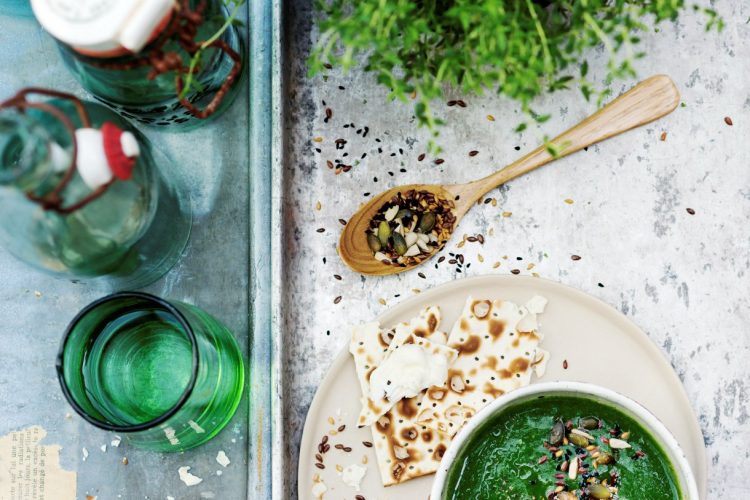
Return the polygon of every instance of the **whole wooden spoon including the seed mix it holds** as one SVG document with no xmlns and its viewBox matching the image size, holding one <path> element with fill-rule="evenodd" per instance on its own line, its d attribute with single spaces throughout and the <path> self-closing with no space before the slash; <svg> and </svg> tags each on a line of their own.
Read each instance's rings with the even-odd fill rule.
<svg viewBox="0 0 750 500">
<path fill-rule="evenodd" d="M 648 78 L 502 170 L 466 184 L 409 184 L 375 195 L 350 219 L 339 255 L 366 275 L 396 274 L 429 260 L 487 192 L 547 163 L 672 112 L 680 102 L 666 75 Z"/>
</svg>

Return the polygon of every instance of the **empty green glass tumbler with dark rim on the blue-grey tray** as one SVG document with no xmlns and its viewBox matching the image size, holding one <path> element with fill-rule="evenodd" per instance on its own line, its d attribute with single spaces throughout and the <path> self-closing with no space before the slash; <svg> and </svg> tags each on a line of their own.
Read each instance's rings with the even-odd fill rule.
<svg viewBox="0 0 750 500">
<path fill-rule="evenodd" d="M 140 292 L 109 295 L 79 312 L 57 373 L 86 421 L 154 451 L 183 451 L 216 436 L 244 384 L 232 332 L 195 306 Z"/>
</svg>

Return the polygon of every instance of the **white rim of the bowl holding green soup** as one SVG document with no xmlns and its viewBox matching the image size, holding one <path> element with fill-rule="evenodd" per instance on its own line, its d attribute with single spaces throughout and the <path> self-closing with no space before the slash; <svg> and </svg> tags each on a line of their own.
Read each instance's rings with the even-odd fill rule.
<svg viewBox="0 0 750 500">
<path fill-rule="evenodd" d="M 512 403 L 528 401 L 541 395 L 574 395 L 585 397 L 594 401 L 607 403 L 630 416 L 648 430 L 654 436 L 656 442 L 663 447 L 667 457 L 672 462 L 684 499 L 699 499 L 695 476 L 690 469 L 685 453 L 680 448 L 680 445 L 677 443 L 674 436 L 672 436 L 672 433 L 664 427 L 664 424 L 662 424 L 658 418 L 643 406 L 622 394 L 610 389 L 605 389 L 604 387 L 581 382 L 543 382 L 532 384 L 522 389 L 516 389 L 509 392 L 487 405 L 471 418 L 461 431 L 459 431 L 456 437 L 453 438 L 453 442 L 451 442 L 448 450 L 443 455 L 440 467 L 435 475 L 430 498 L 432 500 L 442 500 L 444 493 L 443 490 L 446 487 L 446 480 L 448 478 L 448 470 L 456 460 L 456 457 L 464 444 L 471 438 L 474 431 L 476 431 L 482 423 L 492 418 L 493 415 L 500 413 Z"/>
</svg>

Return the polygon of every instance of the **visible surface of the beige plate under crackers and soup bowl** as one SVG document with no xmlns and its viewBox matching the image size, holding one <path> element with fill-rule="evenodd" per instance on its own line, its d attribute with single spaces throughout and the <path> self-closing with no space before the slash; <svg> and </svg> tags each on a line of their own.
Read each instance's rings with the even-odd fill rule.
<svg viewBox="0 0 750 500">
<path fill-rule="evenodd" d="M 542 347 L 550 351 L 547 373 L 541 379 L 589 382 L 613 389 L 641 403 L 677 438 L 695 474 L 701 498 L 706 498 L 706 456 L 698 421 L 679 378 L 661 351 L 643 331 L 620 312 L 583 292 L 541 278 L 524 276 L 481 276 L 452 281 L 389 309 L 378 319 L 384 327 L 406 321 L 427 305 L 440 306 L 441 329 L 450 331 L 461 313 L 466 297 L 506 299 L 519 304 L 534 295 L 549 300 L 540 316 L 544 334 Z M 366 320 L 367 318 L 362 318 Z M 567 360 L 567 369 L 563 361 Z M 333 362 L 315 394 L 307 414 L 299 460 L 300 500 L 315 500 L 313 477 L 317 474 L 328 491 L 324 499 L 422 500 L 428 497 L 433 476 L 421 477 L 385 488 L 380 482 L 369 428 L 357 429 L 360 388 L 354 362 L 345 348 Z M 346 429 L 335 435 L 341 425 Z M 323 435 L 330 451 L 324 456 L 325 469 L 315 467 L 315 454 Z M 334 447 L 352 448 L 345 452 Z M 346 485 L 337 465 L 362 464 L 367 474 L 360 492 Z"/>
</svg>

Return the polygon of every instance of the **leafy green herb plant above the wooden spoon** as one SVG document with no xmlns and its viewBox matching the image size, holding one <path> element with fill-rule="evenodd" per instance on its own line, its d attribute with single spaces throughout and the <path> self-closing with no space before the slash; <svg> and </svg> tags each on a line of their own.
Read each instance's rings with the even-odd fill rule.
<svg viewBox="0 0 750 500">
<path fill-rule="evenodd" d="M 415 114 L 433 136 L 442 124 L 430 102 L 446 87 L 471 94 L 493 91 L 518 101 L 528 117 L 518 127 L 549 115 L 531 107 L 543 92 L 580 88 L 598 104 L 607 89 L 589 80 L 589 57 L 604 48 L 606 83 L 635 76 L 639 33 L 674 21 L 684 0 L 316 0 L 320 38 L 310 74 L 362 64 L 390 95 L 416 100 Z M 723 26 L 711 8 L 706 29 Z"/>
</svg>

